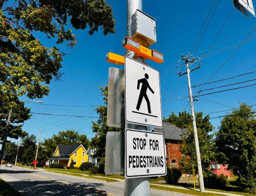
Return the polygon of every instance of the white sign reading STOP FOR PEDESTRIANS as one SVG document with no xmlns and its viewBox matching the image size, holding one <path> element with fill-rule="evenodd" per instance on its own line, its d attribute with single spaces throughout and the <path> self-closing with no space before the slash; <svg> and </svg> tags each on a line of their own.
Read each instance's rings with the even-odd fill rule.
<svg viewBox="0 0 256 196">
<path fill-rule="evenodd" d="M 166 175 L 164 136 L 142 130 L 125 130 L 125 177 Z"/>
</svg>

